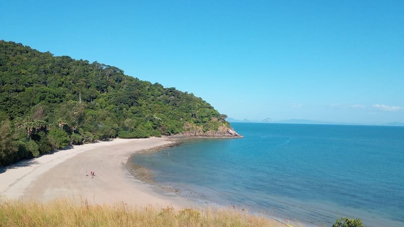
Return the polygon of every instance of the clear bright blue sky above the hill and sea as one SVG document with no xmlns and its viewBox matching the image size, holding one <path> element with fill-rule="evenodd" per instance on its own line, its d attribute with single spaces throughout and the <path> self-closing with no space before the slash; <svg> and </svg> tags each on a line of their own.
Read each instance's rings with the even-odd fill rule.
<svg viewBox="0 0 404 227">
<path fill-rule="evenodd" d="M 235 119 L 404 122 L 404 1 L 18 1 L 0 39 L 113 65 Z"/>
</svg>

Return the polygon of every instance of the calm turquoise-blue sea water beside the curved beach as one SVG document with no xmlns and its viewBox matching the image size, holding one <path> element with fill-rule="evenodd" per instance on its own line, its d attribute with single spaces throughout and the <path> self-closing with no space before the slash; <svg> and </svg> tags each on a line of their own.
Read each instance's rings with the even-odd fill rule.
<svg viewBox="0 0 404 227">
<path fill-rule="evenodd" d="M 307 225 L 404 226 L 404 127 L 233 123 L 243 139 L 131 157 L 156 185 Z"/>
</svg>

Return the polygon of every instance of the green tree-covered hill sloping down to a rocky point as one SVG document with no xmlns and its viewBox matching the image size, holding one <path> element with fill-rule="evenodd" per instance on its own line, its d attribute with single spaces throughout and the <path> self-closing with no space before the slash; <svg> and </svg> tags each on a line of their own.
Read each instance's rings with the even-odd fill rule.
<svg viewBox="0 0 404 227">
<path fill-rule="evenodd" d="M 0 165 L 97 139 L 231 136 L 226 117 L 116 67 L 0 41 Z"/>
</svg>

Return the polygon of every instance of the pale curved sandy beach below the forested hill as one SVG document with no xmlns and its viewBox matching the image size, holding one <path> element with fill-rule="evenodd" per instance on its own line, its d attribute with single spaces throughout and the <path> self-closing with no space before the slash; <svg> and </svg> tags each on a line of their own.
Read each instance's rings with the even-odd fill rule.
<svg viewBox="0 0 404 227">
<path fill-rule="evenodd" d="M 125 169 L 131 154 L 170 143 L 167 138 L 114 139 L 21 161 L 0 169 L 0 198 L 182 207 L 184 199 L 154 192 Z"/>
</svg>

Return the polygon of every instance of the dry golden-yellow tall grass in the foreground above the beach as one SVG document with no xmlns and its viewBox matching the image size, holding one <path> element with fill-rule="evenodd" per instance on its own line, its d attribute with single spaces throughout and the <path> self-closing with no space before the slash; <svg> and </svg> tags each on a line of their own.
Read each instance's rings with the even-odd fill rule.
<svg viewBox="0 0 404 227">
<path fill-rule="evenodd" d="M 232 209 L 172 207 L 157 209 L 151 206 L 130 208 L 124 203 L 115 205 L 81 205 L 69 200 L 48 203 L 0 202 L 0 226 L 291 226 L 266 217 L 253 216 Z"/>
</svg>

